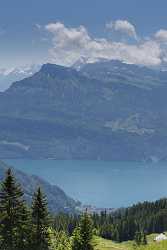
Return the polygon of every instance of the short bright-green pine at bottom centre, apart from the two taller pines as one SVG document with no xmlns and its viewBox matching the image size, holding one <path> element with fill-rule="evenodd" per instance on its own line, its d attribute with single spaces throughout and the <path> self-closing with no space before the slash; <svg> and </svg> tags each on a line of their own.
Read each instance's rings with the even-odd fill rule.
<svg viewBox="0 0 167 250">
<path fill-rule="evenodd" d="M 87 211 L 82 215 L 80 225 L 73 235 L 73 250 L 92 250 L 93 226 Z"/>
</svg>

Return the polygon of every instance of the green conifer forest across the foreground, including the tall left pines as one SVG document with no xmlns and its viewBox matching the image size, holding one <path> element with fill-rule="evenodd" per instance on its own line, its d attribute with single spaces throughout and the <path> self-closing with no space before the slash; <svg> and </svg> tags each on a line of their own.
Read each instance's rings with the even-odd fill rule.
<svg viewBox="0 0 167 250">
<path fill-rule="evenodd" d="M 8 169 L 0 186 L 1 250 L 92 250 L 94 238 L 147 245 L 147 235 L 167 231 L 167 199 L 138 203 L 108 214 L 51 214 L 40 187 L 32 204 Z"/>
</svg>

